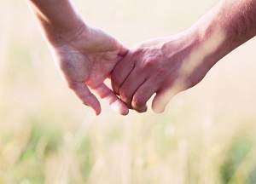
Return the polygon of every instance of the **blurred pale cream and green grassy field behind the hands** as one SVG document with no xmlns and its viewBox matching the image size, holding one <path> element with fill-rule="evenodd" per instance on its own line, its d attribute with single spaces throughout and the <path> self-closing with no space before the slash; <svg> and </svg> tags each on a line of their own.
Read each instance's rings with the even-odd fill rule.
<svg viewBox="0 0 256 184">
<path fill-rule="evenodd" d="M 74 4 L 131 48 L 182 32 L 216 2 Z M 102 103 L 96 117 L 61 81 L 26 1 L 0 0 L 0 183 L 256 183 L 255 47 L 224 57 L 162 114 L 121 117 Z"/>
</svg>

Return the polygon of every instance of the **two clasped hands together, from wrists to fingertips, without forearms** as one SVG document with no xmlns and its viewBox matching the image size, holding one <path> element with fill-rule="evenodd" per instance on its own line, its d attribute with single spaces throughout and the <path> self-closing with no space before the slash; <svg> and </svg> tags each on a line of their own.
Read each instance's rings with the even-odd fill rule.
<svg viewBox="0 0 256 184">
<path fill-rule="evenodd" d="M 187 32 L 144 41 L 129 52 L 101 30 L 81 26 L 76 32 L 53 47 L 55 63 L 67 86 L 96 114 L 101 106 L 90 91 L 122 115 L 128 108 L 146 112 L 156 93 L 152 108 L 164 112 L 173 95 L 199 83 L 210 69 L 191 58 L 198 51 L 196 38 Z M 113 91 L 104 83 L 108 77 Z"/>
</svg>

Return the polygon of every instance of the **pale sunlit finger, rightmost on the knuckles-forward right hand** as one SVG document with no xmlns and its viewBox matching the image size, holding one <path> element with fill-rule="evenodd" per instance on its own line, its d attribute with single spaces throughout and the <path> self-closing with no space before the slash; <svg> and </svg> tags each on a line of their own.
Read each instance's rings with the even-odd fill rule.
<svg viewBox="0 0 256 184">
<path fill-rule="evenodd" d="M 167 104 L 172 100 L 172 97 L 182 90 L 183 87 L 177 84 L 173 84 L 172 86 L 159 90 L 154 96 L 154 100 L 152 102 L 153 111 L 156 113 L 164 112 Z"/>
</svg>

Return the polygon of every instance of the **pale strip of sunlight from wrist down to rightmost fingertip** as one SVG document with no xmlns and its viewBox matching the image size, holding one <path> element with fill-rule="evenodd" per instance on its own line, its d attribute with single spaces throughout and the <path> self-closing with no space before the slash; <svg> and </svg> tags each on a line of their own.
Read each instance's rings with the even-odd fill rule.
<svg viewBox="0 0 256 184">
<path fill-rule="evenodd" d="M 201 70 L 201 66 L 205 65 L 204 62 L 207 62 L 207 56 L 215 53 L 223 44 L 225 37 L 224 32 L 214 32 L 205 43 L 195 48 L 195 50 L 183 60 L 183 66 L 179 68 L 178 77 L 173 82 L 172 87 L 162 93 L 157 100 L 153 101 L 152 109 L 154 112 L 164 112 L 166 105 L 172 100 L 174 95 L 194 85 L 193 83 L 191 86 L 191 83 L 189 83 L 190 80 L 193 80 L 193 78 L 195 78 L 194 75 L 200 72 L 198 70 Z"/>
</svg>

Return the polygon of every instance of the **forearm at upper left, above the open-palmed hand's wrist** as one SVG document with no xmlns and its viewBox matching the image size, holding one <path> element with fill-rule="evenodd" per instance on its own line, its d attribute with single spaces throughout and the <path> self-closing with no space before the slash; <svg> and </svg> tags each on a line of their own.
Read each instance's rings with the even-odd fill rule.
<svg viewBox="0 0 256 184">
<path fill-rule="evenodd" d="M 69 42 L 76 32 L 79 33 L 79 29 L 85 26 L 71 0 L 28 0 L 28 2 L 32 5 L 32 12 L 50 44 Z"/>
</svg>

